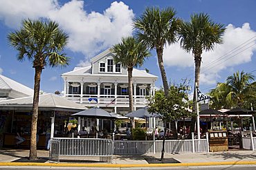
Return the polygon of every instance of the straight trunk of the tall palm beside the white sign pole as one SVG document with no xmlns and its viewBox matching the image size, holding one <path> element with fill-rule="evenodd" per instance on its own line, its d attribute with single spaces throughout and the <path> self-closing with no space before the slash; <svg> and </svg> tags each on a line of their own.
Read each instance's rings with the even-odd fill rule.
<svg viewBox="0 0 256 170">
<path fill-rule="evenodd" d="M 194 132 L 194 124 L 196 122 L 196 84 L 199 86 L 199 78 L 200 78 L 200 70 L 201 70 L 201 55 L 194 55 L 194 96 L 193 96 L 193 108 L 192 112 L 194 113 L 191 118 L 191 125 L 190 125 L 190 133 Z M 191 138 L 191 136 L 190 136 Z"/>
</svg>

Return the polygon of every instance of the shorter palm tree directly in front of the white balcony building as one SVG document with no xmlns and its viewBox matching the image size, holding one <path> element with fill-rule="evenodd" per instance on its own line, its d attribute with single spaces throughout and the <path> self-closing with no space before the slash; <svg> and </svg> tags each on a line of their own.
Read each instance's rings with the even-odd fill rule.
<svg viewBox="0 0 256 170">
<path fill-rule="evenodd" d="M 134 111 L 133 91 L 132 91 L 132 71 L 134 67 L 142 66 L 145 58 L 150 56 L 147 46 L 140 43 L 134 37 L 122 38 L 119 44 L 114 45 L 111 51 L 115 54 L 115 63 L 122 64 L 128 71 L 128 93 L 129 111 Z M 133 124 L 134 126 L 134 124 Z"/>
</svg>

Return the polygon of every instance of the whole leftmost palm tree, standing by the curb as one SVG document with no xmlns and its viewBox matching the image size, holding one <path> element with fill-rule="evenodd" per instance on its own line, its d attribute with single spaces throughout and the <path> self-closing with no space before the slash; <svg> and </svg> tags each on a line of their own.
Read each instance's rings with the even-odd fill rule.
<svg viewBox="0 0 256 170">
<path fill-rule="evenodd" d="M 54 21 L 22 21 L 20 30 L 8 35 L 10 46 L 18 50 L 17 59 L 28 59 L 35 68 L 35 84 L 33 97 L 33 115 L 31 119 L 30 155 L 31 160 L 37 159 L 37 116 L 39 89 L 42 70 L 46 66 L 66 66 L 69 58 L 62 51 L 68 42 L 68 35 Z"/>
</svg>

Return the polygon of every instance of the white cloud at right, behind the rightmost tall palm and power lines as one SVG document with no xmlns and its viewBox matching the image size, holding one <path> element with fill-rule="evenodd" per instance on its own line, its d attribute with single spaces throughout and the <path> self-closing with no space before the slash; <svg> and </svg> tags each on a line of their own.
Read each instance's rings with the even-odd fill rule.
<svg viewBox="0 0 256 170">
<path fill-rule="evenodd" d="M 256 50 L 255 42 L 256 32 L 250 29 L 249 23 L 244 23 L 241 28 L 229 24 L 223 35 L 223 44 L 215 46 L 212 51 L 203 52 L 201 82 L 215 84 L 221 70 L 250 62 Z M 163 57 L 166 66 L 194 67 L 192 53 L 185 53 L 179 43 L 167 46 Z"/>
</svg>

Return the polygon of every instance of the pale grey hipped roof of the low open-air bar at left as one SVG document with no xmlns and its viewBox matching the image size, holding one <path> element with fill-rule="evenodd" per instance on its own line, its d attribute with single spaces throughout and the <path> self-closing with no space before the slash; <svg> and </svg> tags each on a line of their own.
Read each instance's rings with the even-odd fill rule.
<svg viewBox="0 0 256 170">
<path fill-rule="evenodd" d="M 33 96 L 0 101 L 0 108 L 10 107 L 10 109 L 13 109 L 20 107 L 32 109 L 32 106 Z M 81 111 L 86 109 L 86 107 L 81 106 L 80 104 L 76 104 L 75 102 L 66 100 L 64 97 L 60 97 L 51 93 L 39 95 L 39 110 L 44 110 L 46 108 L 55 111 Z"/>
</svg>

